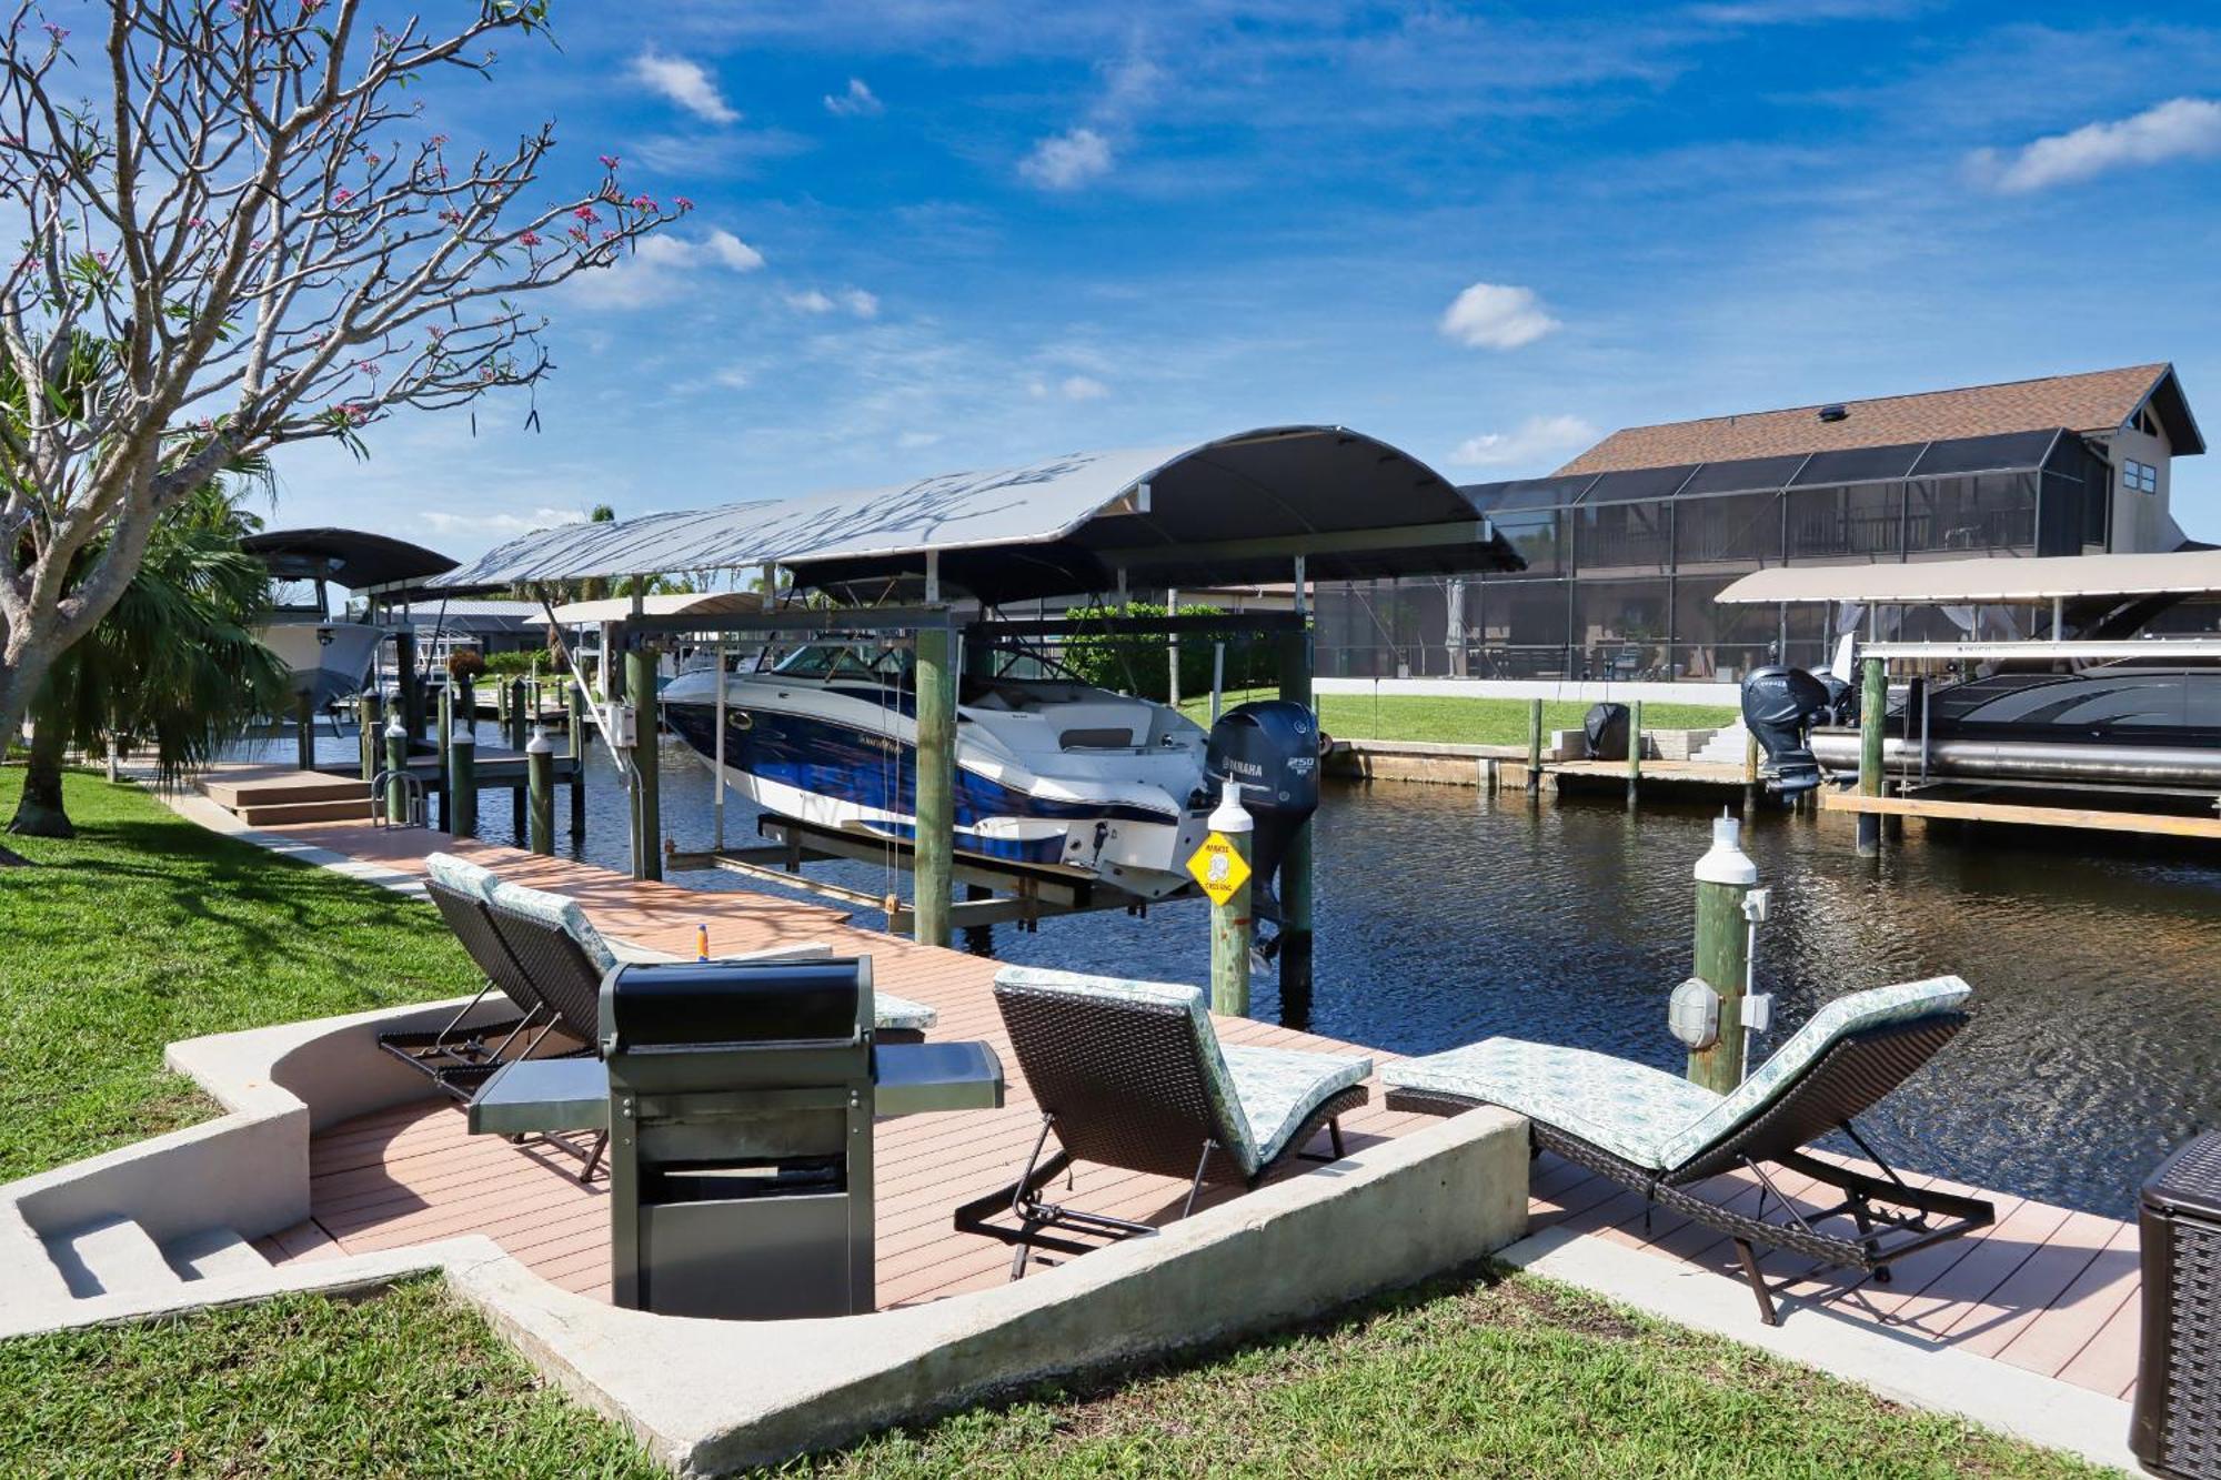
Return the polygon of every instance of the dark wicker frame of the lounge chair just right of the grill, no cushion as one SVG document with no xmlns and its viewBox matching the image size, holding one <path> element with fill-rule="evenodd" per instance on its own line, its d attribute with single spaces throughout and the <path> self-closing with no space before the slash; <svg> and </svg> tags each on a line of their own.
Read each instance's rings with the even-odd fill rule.
<svg viewBox="0 0 2221 1480">
<path fill-rule="evenodd" d="M 1037 1249 L 1091 1253 L 1104 1242 L 1150 1238 L 1153 1224 L 1071 1209 L 1042 1189 L 1073 1162 L 1153 1171 L 1188 1182 L 1179 1216 L 1195 1211 L 1204 1184 L 1257 1187 L 1288 1160 L 1333 1162 L 1344 1156 L 1341 1116 L 1368 1100 L 1364 1084 L 1321 1100 L 1255 1173 L 1226 1149 L 1228 1131 L 1204 1091 L 1204 1064 L 1186 1004 L 1084 1000 L 1033 987 L 995 987 L 1019 1071 L 1042 1102 L 1042 1129 L 1019 1178 L 955 1211 L 959 1233 L 1015 1244 L 1011 1278 L 1022 1280 Z M 1139 1080 L 1133 1082 L 1133 1080 Z M 1326 1129 L 1333 1156 L 1304 1151 Z M 1059 1149 L 1048 1160 L 1051 1131 Z M 1193 1171 L 1188 1158 L 1195 1158 Z M 1017 1227 L 995 1222 L 1008 1213 Z M 1079 1242 L 1088 1236 L 1099 1242 Z"/>
</svg>

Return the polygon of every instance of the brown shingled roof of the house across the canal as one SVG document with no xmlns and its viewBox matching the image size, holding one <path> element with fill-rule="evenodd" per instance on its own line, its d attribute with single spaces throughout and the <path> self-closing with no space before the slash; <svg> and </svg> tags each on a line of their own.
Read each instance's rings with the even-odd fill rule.
<svg viewBox="0 0 2221 1480">
<path fill-rule="evenodd" d="M 1999 431 L 2112 431 L 2170 373 L 2168 364 L 2130 364 L 2083 376 L 2046 376 L 2010 384 L 1977 384 L 1961 391 L 1846 400 L 1839 422 L 1819 420 L 1819 407 L 1712 416 L 1661 427 L 1626 427 L 1557 469 L 1564 473 L 1610 473 L 1637 467 L 1679 467 L 1730 458 L 1837 451 L 1846 447 L 1895 447 L 1974 438 Z M 1837 404 L 1837 402 L 1830 402 Z"/>
</svg>

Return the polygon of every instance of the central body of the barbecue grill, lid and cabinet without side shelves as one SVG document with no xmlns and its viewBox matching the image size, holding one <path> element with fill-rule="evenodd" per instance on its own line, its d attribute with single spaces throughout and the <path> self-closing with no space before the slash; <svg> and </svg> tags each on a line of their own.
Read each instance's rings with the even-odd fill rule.
<svg viewBox="0 0 2221 1480">
<path fill-rule="evenodd" d="M 871 960 L 615 967 L 600 1036 L 615 1304 L 871 1311 Z"/>
</svg>

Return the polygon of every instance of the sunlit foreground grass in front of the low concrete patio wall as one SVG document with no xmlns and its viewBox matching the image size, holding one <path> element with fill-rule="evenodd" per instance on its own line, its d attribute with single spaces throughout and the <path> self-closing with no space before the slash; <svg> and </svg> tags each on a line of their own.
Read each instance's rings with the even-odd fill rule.
<svg viewBox="0 0 2221 1480">
<path fill-rule="evenodd" d="M 651 1476 L 435 1280 L 0 1342 L 0 1453 L 40 1476 Z M 2097 1473 L 1546 1280 L 1481 1273 L 1310 1329 L 882 1433 L 788 1473 Z"/>
</svg>

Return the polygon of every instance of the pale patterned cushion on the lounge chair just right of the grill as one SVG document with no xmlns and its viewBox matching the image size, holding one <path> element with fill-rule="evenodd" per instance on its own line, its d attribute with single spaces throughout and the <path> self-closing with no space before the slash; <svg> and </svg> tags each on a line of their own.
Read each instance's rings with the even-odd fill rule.
<svg viewBox="0 0 2221 1480">
<path fill-rule="evenodd" d="M 1279 1156 L 1286 1138 L 1321 1100 L 1373 1073 L 1368 1058 L 1222 1047 L 1217 1029 L 1210 1027 L 1204 993 L 1179 982 L 1135 982 L 1079 971 L 1004 967 L 995 973 L 995 984 L 1186 1011 L 1204 1069 L 1204 1093 L 1217 1111 L 1215 1118 L 1228 1127 L 1226 1140 L 1233 1144 L 1224 1149 L 1242 1167 L 1242 1176 L 1255 1176 Z"/>
</svg>

